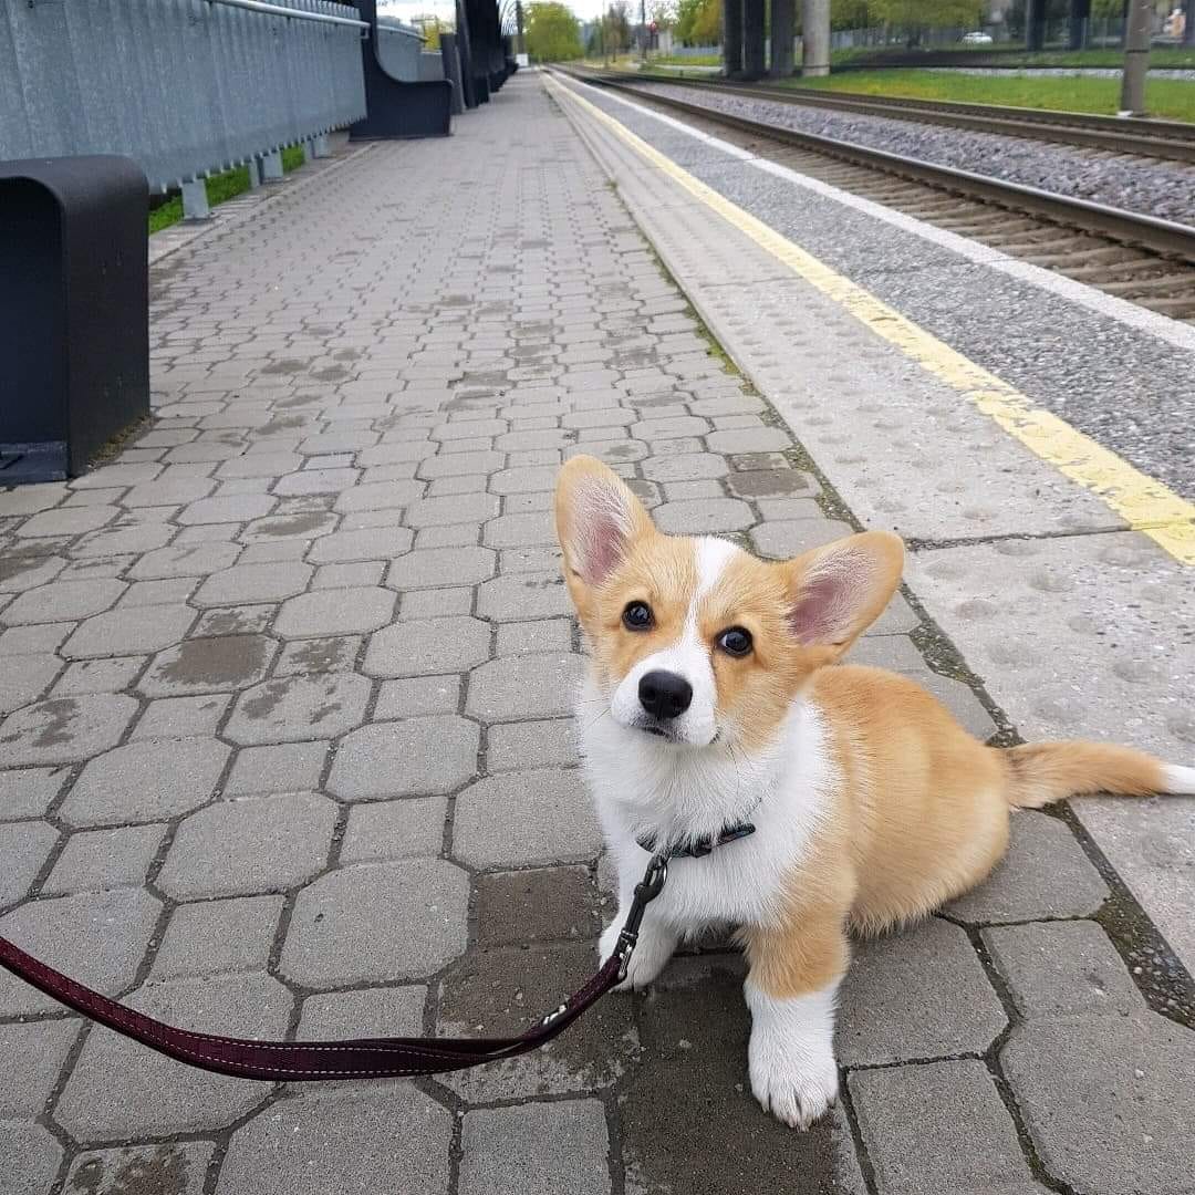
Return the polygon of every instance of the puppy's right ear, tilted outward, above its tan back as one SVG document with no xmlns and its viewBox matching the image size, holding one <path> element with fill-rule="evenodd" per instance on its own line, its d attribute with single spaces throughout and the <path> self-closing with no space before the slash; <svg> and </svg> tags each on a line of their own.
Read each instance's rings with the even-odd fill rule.
<svg viewBox="0 0 1195 1195">
<path fill-rule="evenodd" d="M 900 584 L 905 545 L 869 531 L 789 560 L 788 623 L 805 646 L 841 655 L 883 612 Z"/>
</svg>

